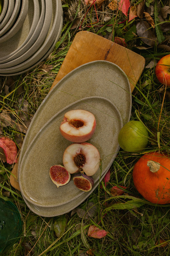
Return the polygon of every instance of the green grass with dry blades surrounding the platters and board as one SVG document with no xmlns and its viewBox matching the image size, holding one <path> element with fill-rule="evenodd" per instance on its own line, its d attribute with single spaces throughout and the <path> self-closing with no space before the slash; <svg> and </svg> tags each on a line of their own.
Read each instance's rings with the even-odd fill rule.
<svg viewBox="0 0 170 256">
<path fill-rule="evenodd" d="M 138 4 L 141 1 L 133 1 Z M 151 2 L 151 1 L 146 1 Z M 165 5 L 168 3 L 164 2 Z M 162 4 L 161 2 L 161 4 Z M 64 57 L 79 31 L 88 30 L 107 38 L 114 36 L 124 37 L 127 47 L 146 59 L 159 60 L 168 51 L 155 47 L 146 47 L 141 50 L 137 46 L 146 46 L 138 36 L 129 37 L 129 29 L 134 29 L 135 22 L 127 22 L 122 12 L 117 9 L 111 11 L 105 1 L 100 9 L 85 6 L 83 1 L 63 0 L 64 21 L 63 29 L 54 51 L 50 54 L 45 65 L 52 65 L 48 72 L 44 67 L 37 66 L 29 72 L 11 77 L 0 77 L 0 107 L 1 114 L 13 114 L 10 126 L 2 127 L 2 136 L 13 139 L 18 148 L 24 140 L 25 133 L 18 127 L 26 129 L 26 119 L 31 119 L 46 97 L 58 73 Z M 87 14 L 85 15 L 85 13 Z M 111 20 L 105 21 L 110 15 Z M 72 29 L 74 20 L 79 17 L 79 24 Z M 124 21 L 125 20 L 125 21 Z M 122 21 L 124 21 L 122 23 Z M 95 23 L 95 24 L 92 24 Z M 90 25 L 86 25 L 90 24 Z M 169 31 L 166 32 L 167 36 Z M 10 87 L 5 86 L 10 83 Z M 170 154 L 170 101 L 163 99 L 165 87 L 160 85 L 155 76 L 155 68 L 145 68 L 136 88 L 132 93 L 131 120 L 141 120 L 150 131 L 148 148 L 144 152 L 160 150 Z M 168 92 L 168 89 L 167 89 Z M 22 98 L 22 103 L 19 99 Z M 24 100 L 26 102 L 24 103 Z M 28 114 L 23 110 L 27 104 Z M 18 106 L 18 111 L 16 110 Z M 19 115 L 23 113 L 25 118 Z M 168 256 L 170 243 L 169 205 L 151 204 L 137 193 L 132 180 L 132 171 L 141 153 L 131 154 L 120 150 L 111 166 L 110 180 L 105 187 L 103 181 L 92 194 L 78 206 L 84 210 L 69 212 L 63 217 L 45 218 L 34 214 L 25 204 L 20 192 L 14 189 L 9 181 L 12 165 L 0 162 L 0 197 L 10 200 L 17 205 L 23 220 L 23 232 L 19 242 L 6 252 L 4 256 L 86 256 L 89 248 L 90 255 L 104 256 Z M 113 186 L 125 186 L 123 196 L 112 196 Z M 131 200 L 131 201 L 130 201 Z M 130 205 L 127 202 L 130 201 Z M 118 203 L 115 205 L 114 203 Z M 124 207 L 126 203 L 126 208 Z M 89 206 L 90 205 L 90 206 Z M 91 207 L 92 215 L 87 213 Z M 57 237 L 54 224 L 60 223 L 63 235 Z M 89 225 L 96 225 L 107 230 L 107 236 L 98 239 L 87 236 Z"/>
</svg>

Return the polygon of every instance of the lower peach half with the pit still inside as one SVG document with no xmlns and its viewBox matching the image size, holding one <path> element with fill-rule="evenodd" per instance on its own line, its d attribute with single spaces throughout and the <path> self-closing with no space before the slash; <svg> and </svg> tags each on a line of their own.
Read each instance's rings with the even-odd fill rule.
<svg viewBox="0 0 170 256">
<path fill-rule="evenodd" d="M 100 153 L 88 142 L 73 143 L 64 151 L 63 165 L 70 173 L 83 171 L 92 176 L 99 169 Z"/>
</svg>

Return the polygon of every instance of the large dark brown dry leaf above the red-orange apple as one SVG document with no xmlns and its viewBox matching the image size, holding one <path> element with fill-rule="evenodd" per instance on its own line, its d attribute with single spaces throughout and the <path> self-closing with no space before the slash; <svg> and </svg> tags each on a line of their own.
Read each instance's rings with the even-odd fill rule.
<svg viewBox="0 0 170 256">
<path fill-rule="evenodd" d="M 150 46 L 155 46 L 155 44 L 158 44 L 157 37 L 153 31 L 153 28 L 151 28 L 146 21 L 140 20 L 136 27 L 137 35 L 145 44 Z"/>
</svg>

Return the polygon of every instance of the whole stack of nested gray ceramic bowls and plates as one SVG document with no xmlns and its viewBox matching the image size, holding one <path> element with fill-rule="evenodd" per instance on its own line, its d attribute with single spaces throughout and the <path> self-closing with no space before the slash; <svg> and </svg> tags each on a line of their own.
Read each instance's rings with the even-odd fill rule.
<svg viewBox="0 0 170 256">
<path fill-rule="evenodd" d="M 53 51 L 63 26 L 61 0 L 3 0 L 0 76 L 27 72 Z"/>
</svg>

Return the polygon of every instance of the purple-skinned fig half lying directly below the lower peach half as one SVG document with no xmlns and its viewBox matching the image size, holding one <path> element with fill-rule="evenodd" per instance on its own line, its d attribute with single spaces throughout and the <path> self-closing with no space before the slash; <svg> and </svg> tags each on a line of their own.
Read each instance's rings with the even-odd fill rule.
<svg viewBox="0 0 170 256">
<path fill-rule="evenodd" d="M 74 175 L 73 183 L 78 189 L 88 192 L 92 189 L 94 180 L 92 177 L 80 172 Z"/>
</svg>

